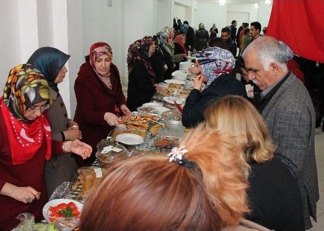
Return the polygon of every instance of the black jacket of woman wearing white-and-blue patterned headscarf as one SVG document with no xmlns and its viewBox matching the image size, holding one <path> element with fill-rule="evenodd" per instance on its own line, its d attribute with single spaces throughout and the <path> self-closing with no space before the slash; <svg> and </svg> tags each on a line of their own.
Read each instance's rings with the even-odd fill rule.
<svg viewBox="0 0 324 231">
<path fill-rule="evenodd" d="M 194 127 L 204 121 L 204 113 L 210 103 L 224 95 L 239 95 L 248 98 L 244 84 L 231 74 L 222 74 L 204 91 L 193 89 L 183 107 L 182 124 Z"/>
</svg>

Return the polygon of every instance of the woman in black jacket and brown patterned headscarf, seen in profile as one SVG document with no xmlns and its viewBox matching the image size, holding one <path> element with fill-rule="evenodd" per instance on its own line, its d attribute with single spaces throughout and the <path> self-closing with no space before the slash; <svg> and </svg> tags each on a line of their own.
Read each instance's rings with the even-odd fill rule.
<svg viewBox="0 0 324 231">
<path fill-rule="evenodd" d="M 155 73 L 149 58 L 155 51 L 153 37 L 145 36 L 128 48 L 128 90 L 127 106 L 136 111 L 151 100 L 158 85 L 154 84 Z"/>
</svg>

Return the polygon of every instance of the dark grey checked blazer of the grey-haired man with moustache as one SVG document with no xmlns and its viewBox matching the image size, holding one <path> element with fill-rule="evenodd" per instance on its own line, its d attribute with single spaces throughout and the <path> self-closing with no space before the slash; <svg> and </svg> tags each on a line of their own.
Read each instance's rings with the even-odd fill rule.
<svg viewBox="0 0 324 231">
<path fill-rule="evenodd" d="M 293 73 L 270 99 L 262 116 L 278 145 L 275 155 L 298 181 L 307 228 L 309 215 L 316 221 L 319 199 L 314 148 L 315 111 L 307 89 Z"/>
</svg>

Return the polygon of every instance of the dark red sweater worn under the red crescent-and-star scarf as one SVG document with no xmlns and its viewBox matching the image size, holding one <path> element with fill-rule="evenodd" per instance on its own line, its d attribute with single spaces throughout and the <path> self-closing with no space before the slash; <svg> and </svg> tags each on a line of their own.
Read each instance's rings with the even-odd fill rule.
<svg viewBox="0 0 324 231">
<path fill-rule="evenodd" d="M 23 164 L 12 164 L 11 149 L 7 128 L 0 110 L 0 190 L 6 182 L 18 187 L 30 186 L 41 192 L 41 198 L 32 203 L 24 204 L 11 197 L 0 195 L 0 229 L 11 230 L 18 225 L 17 215 L 23 212 L 32 213 L 36 221 L 43 218 L 42 210 L 46 202 L 47 191 L 44 181 L 46 142 L 39 148 L 36 155 Z M 45 139 L 44 139 L 45 140 Z M 52 154 L 62 153 L 62 142 L 52 140 Z"/>
</svg>

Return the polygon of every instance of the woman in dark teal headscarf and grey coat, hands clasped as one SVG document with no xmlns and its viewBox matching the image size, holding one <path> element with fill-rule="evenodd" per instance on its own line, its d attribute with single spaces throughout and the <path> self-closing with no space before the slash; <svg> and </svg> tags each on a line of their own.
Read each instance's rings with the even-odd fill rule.
<svg viewBox="0 0 324 231">
<path fill-rule="evenodd" d="M 53 47 L 37 49 L 28 59 L 40 70 L 50 86 L 50 95 L 53 99 L 51 107 L 47 110 L 51 121 L 52 138 L 57 141 L 81 139 L 82 134 L 78 125 L 67 118 L 67 111 L 57 85 L 63 82 L 67 69 L 65 63 L 69 55 Z M 53 157 L 45 165 L 45 182 L 48 196 L 64 181 L 71 181 L 77 169 L 72 155 Z"/>
</svg>

